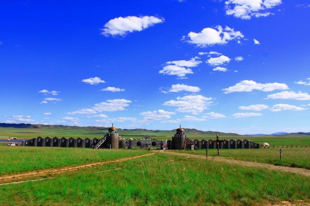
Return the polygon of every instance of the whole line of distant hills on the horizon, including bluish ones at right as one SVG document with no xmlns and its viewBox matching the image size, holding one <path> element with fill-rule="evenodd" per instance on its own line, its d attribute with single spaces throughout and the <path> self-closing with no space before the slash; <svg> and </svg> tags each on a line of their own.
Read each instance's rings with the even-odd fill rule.
<svg viewBox="0 0 310 206">
<path fill-rule="evenodd" d="M 173 130 L 151 130 L 151 129 L 121 129 L 117 128 L 117 132 L 122 137 L 137 137 L 141 135 L 149 135 L 153 137 L 171 137 L 175 134 L 176 128 Z M 276 132 L 273 134 L 245 134 L 224 133 L 218 131 L 201 131 L 197 129 L 184 128 L 188 137 L 215 137 L 216 133 L 219 137 L 238 137 L 238 136 L 310 136 L 310 132 L 286 133 Z M 8 124 L 0 123 L 0 136 L 3 137 L 102 137 L 108 132 L 108 127 L 78 127 L 68 125 L 44 125 L 44 124 Z"/>
</svg>

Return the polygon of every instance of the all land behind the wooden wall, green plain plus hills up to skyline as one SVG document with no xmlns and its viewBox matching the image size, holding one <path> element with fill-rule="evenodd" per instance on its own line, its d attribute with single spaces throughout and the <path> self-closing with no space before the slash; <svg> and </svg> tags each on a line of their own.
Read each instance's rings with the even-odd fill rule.
<svg viewBox="0 0 310 206">
<path fill-rule="evenodd" d="M 65 125 L 35 125 L 35 124 L 5 124 L 0 123 L 0 137 L 19 137 L 19 138 L 33 138 L 33 137 L 103 137 L 108 128 L 103 127 L 77 127 Z M 147 130 L 147 129 L 118 129 L 117 132 L 122 138 L 139 138 L 144 135 L 156 138 L 158 140 L 171 139 L 175 134 L 175 130 Z M 208 140 L 215 139 L 216 132 L 201 131 L 197 129 L 185 128 L 186 135 L 191 139 Z M 307 134 L 307 133 L 304 133 Z M 293 135 L 286 134 L 286 135 Z M 245 137 L 235 133 L 219 132 L 220 139 L 249 139 L 254 142 L 268 142 L 271 146 L 294 145 L 310 146 L 310 135 L 291 136 L 259 136 L 259 137 Z"/>
</svg>

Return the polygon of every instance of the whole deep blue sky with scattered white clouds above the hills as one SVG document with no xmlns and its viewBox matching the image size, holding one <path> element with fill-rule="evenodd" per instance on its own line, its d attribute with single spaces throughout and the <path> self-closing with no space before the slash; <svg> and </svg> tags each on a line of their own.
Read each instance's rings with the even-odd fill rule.
<svg viewBox="0 0 310 206">
<path fill-rule="evenodd" d="M 308 19 L 308 1 L 6 1 L 0 122 L 309 132 Z"/>
</svg>

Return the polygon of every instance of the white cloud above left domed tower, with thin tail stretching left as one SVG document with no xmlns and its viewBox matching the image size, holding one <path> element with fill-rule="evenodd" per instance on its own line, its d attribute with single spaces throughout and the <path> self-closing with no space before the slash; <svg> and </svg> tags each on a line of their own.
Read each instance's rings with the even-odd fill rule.
<svg viewBox="0 0 310 206">
<path fill-rule="evenodd" d="M 106 102 L 100 102 L 95 104 L 91 108 L 79 109 L 73 112 L 67 112 L 67 114 L 96 114 L 102 111 L 123 111 L 125 107 L 129 106 L 131 100 L 126 99 L 108 99 Z"/>
</svg>

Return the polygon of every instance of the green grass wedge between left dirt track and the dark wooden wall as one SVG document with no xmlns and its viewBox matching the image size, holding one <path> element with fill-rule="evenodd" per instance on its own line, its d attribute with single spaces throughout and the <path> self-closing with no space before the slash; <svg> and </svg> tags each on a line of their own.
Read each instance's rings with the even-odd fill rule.
<svg viewBox="0 0 310 206">
<path fill-rule="evenodd" d="M 144 149 L 87 149 L 57 147 L 0 146 L 0 176 L 8 173 L 81 165 L 90 162 L 131 157 L 147 153 Z"/>
</svg>

